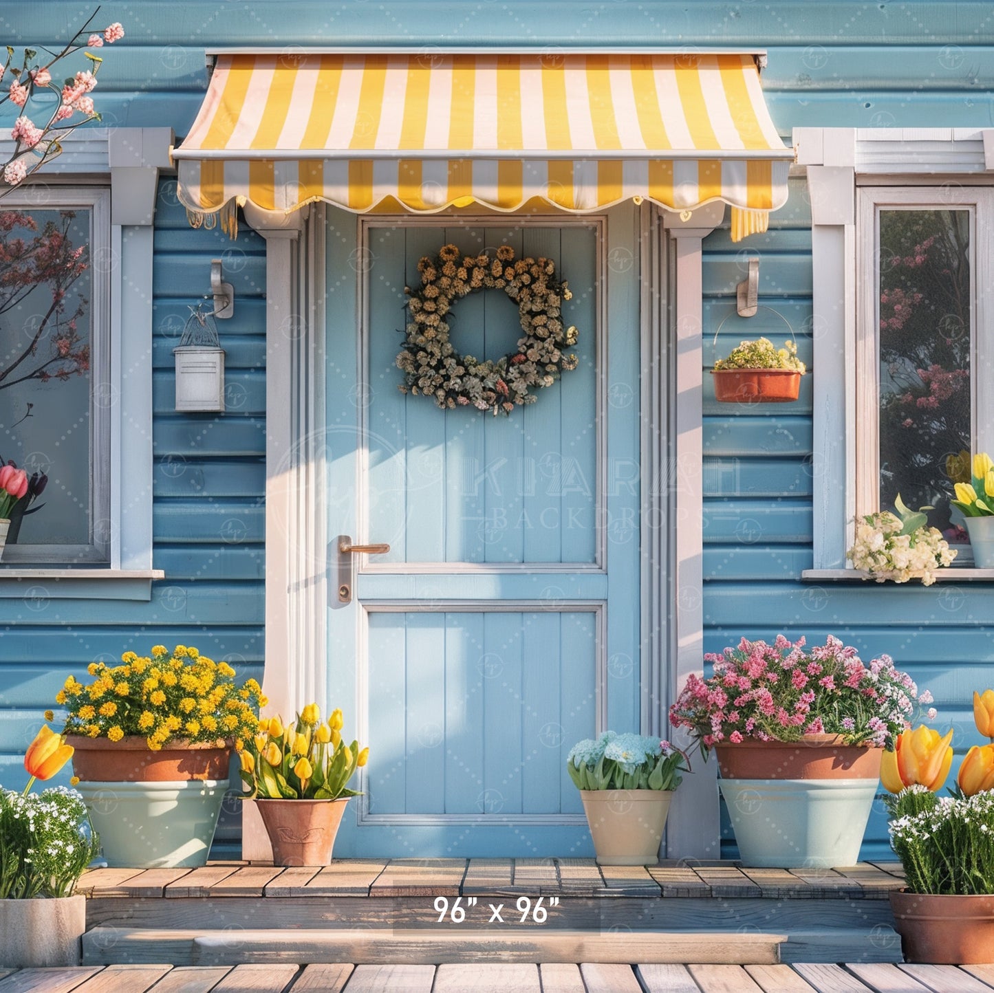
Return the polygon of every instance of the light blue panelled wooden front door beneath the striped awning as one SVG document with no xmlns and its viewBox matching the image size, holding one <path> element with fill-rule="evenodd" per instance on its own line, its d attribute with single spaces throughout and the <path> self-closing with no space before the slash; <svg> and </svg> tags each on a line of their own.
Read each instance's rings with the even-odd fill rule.
<svg viewBox="0 0 994 993">
<path fill-rule="evenodd" d="M 567 753 L 639 722 L 637 218 L 368 219 L 357 245 L 329 211 L 329 535 L 390 545 L 348 603 L 329 546 L 331 704 L 371 750 L 336 854 L 592 854 Z M 398 389 L 405 286 L 447 243 L 569 281 L 579 366 L 510 416 Z M 499 290 L 448 319 L 477 358 L 522 333 Z"/>
</svg>

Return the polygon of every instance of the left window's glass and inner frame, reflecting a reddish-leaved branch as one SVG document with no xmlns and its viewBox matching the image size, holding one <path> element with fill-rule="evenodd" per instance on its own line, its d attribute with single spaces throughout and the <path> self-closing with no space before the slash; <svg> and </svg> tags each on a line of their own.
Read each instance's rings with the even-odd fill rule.
<svg viewBox="0 0 994 993">
<path fill-rule="evenodd" d="M 5 566 L 109 562 L 109 194 L 0 201 L 0 458 L 42 492 L 11 515 Z"/>
</svg>

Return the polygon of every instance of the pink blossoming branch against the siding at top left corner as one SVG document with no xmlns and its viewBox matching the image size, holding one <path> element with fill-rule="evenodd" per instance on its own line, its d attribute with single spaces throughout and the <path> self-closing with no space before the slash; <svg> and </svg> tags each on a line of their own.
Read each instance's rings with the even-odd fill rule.
<svg viewBox="0 0 994 993">
<path fill-rule="evenodd" d="M 11 129 L 14 151 L 6 162 L 0 163 L 0 197 L 54 159 L 62 151 L 62 139 L 68 134 L 81 124 L 100 119 L 90 93 L 103 60 L 89 50 L 123 38 L 124 29 L 114 23 L 102 32 L 91 32 L 90 25 L 98 10 L 61 52 L 43 50 L 40 54 L 35 49 L 24 49 L 17 58 L 15 50 L 7 46 L 7 61 L 0 74 L 0 105 L 10 102 L 19 108 L 19 114 Z M 62 84 L 57 83 L 54 76 L 57 64 L 80 51 L 86 60 L 83 68 Z M 45 91 L 57 96 L 51 106 L 49 99 L 39 99 Z"/>
</svg>

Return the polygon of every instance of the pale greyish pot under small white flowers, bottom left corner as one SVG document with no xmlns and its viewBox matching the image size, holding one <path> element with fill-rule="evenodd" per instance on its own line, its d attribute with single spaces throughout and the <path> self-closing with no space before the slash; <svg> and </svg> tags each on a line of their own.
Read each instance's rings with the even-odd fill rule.
<svg viewBox="0 0 994 993">
<path fill-rule="evenodd" d="M 85 929 L 85 897 L 0 900 L 0 966 L 79 965 Z"/>
</svg>

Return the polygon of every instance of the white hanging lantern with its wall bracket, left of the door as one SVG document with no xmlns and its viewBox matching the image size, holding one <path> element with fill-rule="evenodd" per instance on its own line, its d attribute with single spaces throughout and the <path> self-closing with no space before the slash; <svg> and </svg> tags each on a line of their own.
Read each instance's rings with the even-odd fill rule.
<svg viewBox="0 0 994 993">
<path fill-rule="evenodd" d="M 225 409 L 225 352 L 218 338 L 216 317 L 235 313 L 235 290 L 222 281 L 221 259 L 211 261 L 211 293 L 204 300 L 214 301 L 214 309 L 204 311 L 202 300 L 190 307 L 190 317 L 176 356 L 176 410 L 211 411 Z"/>
</svg>

